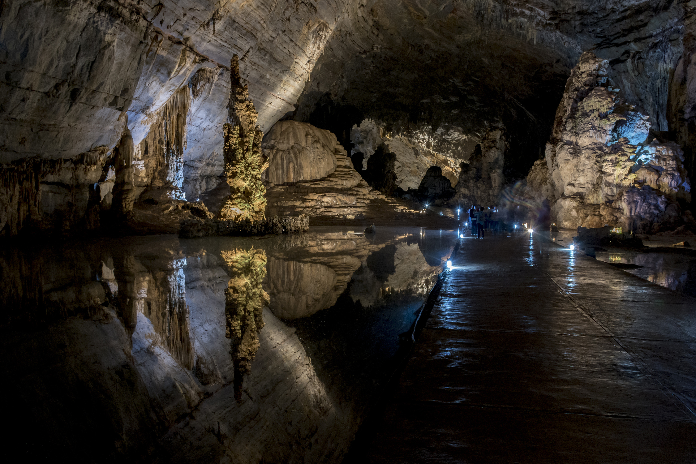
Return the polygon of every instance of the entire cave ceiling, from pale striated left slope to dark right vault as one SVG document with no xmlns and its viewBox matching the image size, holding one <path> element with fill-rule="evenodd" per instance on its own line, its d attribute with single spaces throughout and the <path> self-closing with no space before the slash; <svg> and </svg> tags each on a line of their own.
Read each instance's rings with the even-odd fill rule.
<svg viewBox="0 0 696 464">
<path fill-rule="evenodd" d="M 6 0 L 0 161 L 111 148 L 125 125 L 138 145 L 183 86 L 194 97 L 187 157 L 221 157 L 214 134 L 227 120 L 232 54 L 263 131 L 280 118 L 319 124 L 312 115 L 329 101 L 342 113 L 325 121 L 334 131 L 362 118 L 469 136 L 505 126 L 538 131 L 538 145 L 589 49 L 610 60 L 624 97 L 666 131 L 664 82 L 693 28 L 685 26 L 693 3 Z"/>
</svg>

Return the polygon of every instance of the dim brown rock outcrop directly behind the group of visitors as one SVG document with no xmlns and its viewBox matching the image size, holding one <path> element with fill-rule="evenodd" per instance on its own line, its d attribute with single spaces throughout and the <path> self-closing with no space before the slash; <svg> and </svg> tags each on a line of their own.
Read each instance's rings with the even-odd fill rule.
<svg viewBox="0 0 696 464">
<path fill-rule="evenodd" d="M 461 163 L 459 182 L 450 205 L 498 205 L 503 191 L 505 165 L 505 135 L 500 129 L 491 129 L 476 146 L 467 161 Z"/>
</svg>

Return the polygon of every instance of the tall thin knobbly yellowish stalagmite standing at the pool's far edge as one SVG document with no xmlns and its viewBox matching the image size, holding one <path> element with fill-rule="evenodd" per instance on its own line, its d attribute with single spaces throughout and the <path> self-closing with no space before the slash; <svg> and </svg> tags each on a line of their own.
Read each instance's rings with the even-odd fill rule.
<svg viewBox="0 0 696 464">
<path fill-rule="evenodd" d="M 230 120 L 223 127 L 225 175 L 232 194 L 223 200 L 218 218 L 223 221 L 262 221 L 266 211 L 266 188 L 261 173 L 268 160 L 261 152 L 263 132 L 257 125 L 258 113 L 249 99 L 248 86 L 242 86 L 239 58 L 232 57 Z"/>
</svg>

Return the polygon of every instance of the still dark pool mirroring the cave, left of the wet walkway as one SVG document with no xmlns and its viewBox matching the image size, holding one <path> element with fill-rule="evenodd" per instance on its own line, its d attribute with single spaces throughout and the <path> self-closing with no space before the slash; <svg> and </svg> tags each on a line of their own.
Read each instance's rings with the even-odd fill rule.
<svg viewBox="0 0 696 464">
<path fill-rule="evenodd" d="M 0 250 L 10 439 L 77 461 L 340 462 L 456 241 L 317 228 Z"/>
</svg>

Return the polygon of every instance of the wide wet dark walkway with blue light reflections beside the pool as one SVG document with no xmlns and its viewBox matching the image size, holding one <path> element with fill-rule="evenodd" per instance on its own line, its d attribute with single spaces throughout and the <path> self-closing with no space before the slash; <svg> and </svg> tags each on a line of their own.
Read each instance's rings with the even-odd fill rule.
<svg viewBox="0 0 696 464">
<path fill-rule="evenodd" d="M 696 462 L 696 298 L 539 243 L 461 239 L 370 461 Z"/>
</svg>

